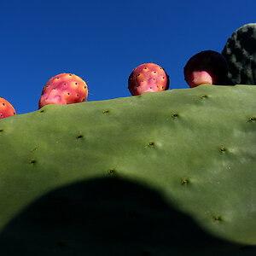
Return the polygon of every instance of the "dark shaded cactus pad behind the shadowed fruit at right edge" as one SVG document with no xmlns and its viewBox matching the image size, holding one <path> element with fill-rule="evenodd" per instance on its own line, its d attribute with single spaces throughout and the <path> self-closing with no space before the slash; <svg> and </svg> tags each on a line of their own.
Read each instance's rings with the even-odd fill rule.
<svg viewBox="0 0 256 256">
<path fill-rule="evenodd" d="M 231 84 L 256 84 L 256 23 L 241 26 L 222 51 L 229 65 Z"/>
</svg>

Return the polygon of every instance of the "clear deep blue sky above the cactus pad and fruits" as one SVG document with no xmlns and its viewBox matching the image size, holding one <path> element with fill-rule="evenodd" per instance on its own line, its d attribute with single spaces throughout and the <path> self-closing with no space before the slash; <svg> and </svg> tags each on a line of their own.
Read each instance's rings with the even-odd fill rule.
<svg viewBox="0 0 256 256">
<path fill-rule="evenodd" d="M 0 96 L 18 114 L 36 111 L 59 73 L 88 84 L 88 101 L 131 96 L 134 67 L 154 62 L 170 89 L 188 88 L 183 67 L 205 49 L 221 52 L 240 26 L 256 22 L 256 1 L 2 1 Z"/>
</svg>

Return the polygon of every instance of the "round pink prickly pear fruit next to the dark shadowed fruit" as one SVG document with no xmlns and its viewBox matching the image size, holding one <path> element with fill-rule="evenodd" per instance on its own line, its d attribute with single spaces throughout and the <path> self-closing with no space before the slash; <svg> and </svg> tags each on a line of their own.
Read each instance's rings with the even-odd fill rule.
<svg viewBox="0 0 256 256">
<path fill-rule="evenodd" d="M 136 67 L 128 79 L 128 89 L 132 96 L 168 88 L 169 76 L 162 67 L 154 63 L 144 63 Z"/>
</svg>

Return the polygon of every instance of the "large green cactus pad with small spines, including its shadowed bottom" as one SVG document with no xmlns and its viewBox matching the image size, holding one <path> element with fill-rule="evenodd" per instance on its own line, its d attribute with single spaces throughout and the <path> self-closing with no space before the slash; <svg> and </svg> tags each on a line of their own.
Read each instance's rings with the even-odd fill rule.
<svg viewBox="0 0 256 256">
<path fill-rule="evenodd" d="M 1 119 L 1 255 L 255 255 L 255 97 L 202 84 Z"/>
</svg>

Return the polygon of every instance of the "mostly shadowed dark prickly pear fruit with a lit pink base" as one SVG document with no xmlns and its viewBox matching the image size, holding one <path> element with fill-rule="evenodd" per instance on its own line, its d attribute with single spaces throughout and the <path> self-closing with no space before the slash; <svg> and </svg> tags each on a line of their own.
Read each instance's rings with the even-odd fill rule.
<svg viewBox="0 0 256 256">
<path fill-rule="evenodd" d="M 214 50 L 204 50 L 192 56 L 184 67 L 184 78 L 189 86 L 226 84 L 228 64 L 224 56 Z"/>
</svg>

